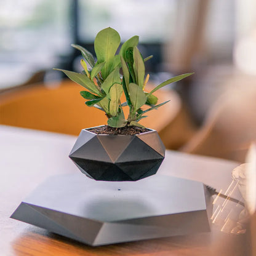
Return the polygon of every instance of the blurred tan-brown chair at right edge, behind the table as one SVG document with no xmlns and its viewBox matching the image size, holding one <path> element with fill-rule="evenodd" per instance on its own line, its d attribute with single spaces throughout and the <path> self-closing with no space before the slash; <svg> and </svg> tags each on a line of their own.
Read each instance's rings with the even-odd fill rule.
<svg viewBox="0 0 256 256">
<path fill-rule="evenodd" d="M 181 149 L 244 162 L 256 139 L 256 81 L 236 77 L 210 109 L 202 128 Z"/>
</svg>

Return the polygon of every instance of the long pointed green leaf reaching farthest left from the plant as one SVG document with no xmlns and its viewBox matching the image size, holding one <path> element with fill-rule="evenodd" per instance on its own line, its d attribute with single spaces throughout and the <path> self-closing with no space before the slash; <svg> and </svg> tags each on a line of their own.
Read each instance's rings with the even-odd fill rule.
<svg viewBox="0 0 256 256">
<path fill-rule="evenodd" d="M 62 71 L 72 81 L 86 88 L 90 92 L 97 94 L 100 97 L 103 97 L 103 94 L 98 90 L 97 86 L 95 86 L 94 82 L 90 81 L 90 79 L 87 78 L 86 74 L 80 74 L 80 73 L 76 73 L 68 70 L 60 70 L 59 68 L 54 68 L 54 70 Z"/>
</svg>

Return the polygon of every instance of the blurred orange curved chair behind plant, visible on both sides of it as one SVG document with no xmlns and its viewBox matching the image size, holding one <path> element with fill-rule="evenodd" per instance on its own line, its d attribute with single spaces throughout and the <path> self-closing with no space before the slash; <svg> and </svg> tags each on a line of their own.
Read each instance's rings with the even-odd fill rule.
<svg viewBox="0 0 256 256">
<path fill-rule="evenodd" d="M 0 124 L 73 135 L 78 135 L 86 127 L 106 124 L 102 111 L 84 105 L 85 100 L 79 94 L 81 90 L 81 86 L 68 80 L 61 82 L 60 86 L 35 84 L 9 90 L 0 94 Z M 159 103 L 171 101 L 157 111 L 150 111 L 148 118 L 141 123 L 158 130 L 168 147 L 182 145 L 184 139 L 177 135 L 180 131 L 174 132 L 175 126 L 182 126 L 179 115 L 184 116 L 180 97 L 169 90 L 158 90 L 155 95 Z M 127 110 L 126 107 L 126 114 Z"/>
</svg>

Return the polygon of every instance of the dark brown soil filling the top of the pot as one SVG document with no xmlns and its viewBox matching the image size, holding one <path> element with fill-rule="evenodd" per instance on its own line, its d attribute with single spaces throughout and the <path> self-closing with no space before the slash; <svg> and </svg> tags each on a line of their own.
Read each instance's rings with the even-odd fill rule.
<svg viewBox="0 0 256 256">
<path fill-rule="evenodd" d="M 143 132 L 149 132 L 149 129 L 140 128 L 137 126 L 125 126 L 121 128 L 114 128 L 110 126 L 100 126 L 87 129 L 95 134 L 109 134 L 109 135 L 135 135 L 142 134 Z"/>
</svg>

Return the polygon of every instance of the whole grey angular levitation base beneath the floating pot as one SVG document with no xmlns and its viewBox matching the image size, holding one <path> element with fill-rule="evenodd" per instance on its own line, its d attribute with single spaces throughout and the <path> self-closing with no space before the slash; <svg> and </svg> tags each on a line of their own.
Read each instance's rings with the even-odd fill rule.
<svg viewBox="0 0 256 256">
<path fill-rule="evenodd" d="M 101 182 L 78 173 L 47 179 L 11 218 L 100 246 L 210 231 L 211 214 L 200 182 L 162 175 Z"/>
</svg>

